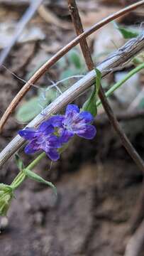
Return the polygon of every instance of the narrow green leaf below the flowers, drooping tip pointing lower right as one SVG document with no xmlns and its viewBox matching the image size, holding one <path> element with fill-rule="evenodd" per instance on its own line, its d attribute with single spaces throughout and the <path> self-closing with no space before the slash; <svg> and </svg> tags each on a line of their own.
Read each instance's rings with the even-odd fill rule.
<svg viewBox="0 0 144 256">
<path fill-rule="evenodd" d="M 31 171 L 29 169 L 24 169 L 23 171 L 28 178 L 31 178 L 34 181 L 38 181 L 40 183 L 44 183 L 44 184 L 50 186 L 53 189 L 53 191 L 55 192 L 55 195 L 57 196 L 57 188 L 55 188 L 55 186 L 50 181 L 45 181 L 44 178 L 40 177 L 38 174 L 35 174 L 33 171 Z"/>
</svg>

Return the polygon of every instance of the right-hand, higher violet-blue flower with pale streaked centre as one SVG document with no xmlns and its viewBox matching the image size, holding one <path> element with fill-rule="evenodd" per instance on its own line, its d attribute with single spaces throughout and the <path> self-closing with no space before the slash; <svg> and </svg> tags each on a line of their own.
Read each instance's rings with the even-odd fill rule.
<svg viewBox="0 0 144 256">
<path fill-rule="evenodd" d="M 49 119 L 53 127 L 58 127 L 61 142 L 65 143 L 77 134 L 85 139 L 93 139 L 96 128 L 91 125 L 94 117 L 87 111 L 79 112 L 77 105 L 67 105 L 65 115 L 56 115 Z"/>
</svg>

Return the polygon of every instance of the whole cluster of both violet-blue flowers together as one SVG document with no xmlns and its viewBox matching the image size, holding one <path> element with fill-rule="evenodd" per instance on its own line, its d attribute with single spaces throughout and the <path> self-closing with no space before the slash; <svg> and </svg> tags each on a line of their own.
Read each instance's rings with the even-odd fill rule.
<svg viewBox="0 0 144 256">
<path fill-rule="evenodd" d="M 77 105 L 67 105 L 65 115 L 55 115 L 40 124 L 38 129 L 26 128 L 18 134 L 30 142 L 25 147 L 26 154 L 43 150 L 53 161 L 60 158 L 59 149 L 67 143 L 74 134 L 85 139 L 93 139 L 96 128 L 92 125 L 94 117 L 90 112 L 79 112 Z M 57 136 L 55 135 L 57 134 Z"/>
</svg>

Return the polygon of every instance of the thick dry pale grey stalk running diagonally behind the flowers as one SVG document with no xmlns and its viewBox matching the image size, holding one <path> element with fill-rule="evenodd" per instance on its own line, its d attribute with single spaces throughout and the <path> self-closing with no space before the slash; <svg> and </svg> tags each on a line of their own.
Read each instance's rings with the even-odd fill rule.
<svg viewBox="0 0 144 256">
<path fill-rule="evenodd" d="M 102 77 L 109 74 L 111 69 L 116 68 L 127 60 L 130 60 L 135 54 L 139 53 L 144 48 L 144 33 L 138 38 L 131 39 L 123 47 L 116 50 L 115 53 L 109 55 L 108 58 L 101 63 L 97 68 L 101 71 Z M 82 94 L 87 88 L 94 84 L 96 78 L 95 70 L 92 70 L 81 80 L 76 82 L 70 89 L 66 90 L 60 97 L 45 108 L 43 114 L 38 114 L 32 122 L 28 124 L 29 127 L 38 127 L 43 120 L 48 119 L 51 114 L 59 112 L 62 107 L 72 102 L 75 98 Z M 24 144 L 25 140 L 19 135 L 16 136 L 0 153 L 0 167 Z"/>
</svg>

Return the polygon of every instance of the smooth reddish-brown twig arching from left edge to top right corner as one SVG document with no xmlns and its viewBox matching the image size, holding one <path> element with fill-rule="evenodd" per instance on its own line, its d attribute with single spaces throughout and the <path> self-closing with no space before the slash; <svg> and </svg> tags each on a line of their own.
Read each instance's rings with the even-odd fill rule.
<svg viewBox="0 0 144 256">
<path fill-rule="evenodd" d="M 59 60 L 65 53 L 67 53 L 70 49 L 72 49 L 74 46 L 76 46 L 80 41 L 82 41 L 84 38 L 87 38 L 87 36 L 91 35 L 94 33 L 94 31 L 98 30 L 102 26 L 106 25 L 110 21 L 113 21 L 114 19 L 128 14 L 130 11 L 133 11 L 137 9 L 139 6 L 142 6 L 144 4 L 143 1 L 139 1 L 138 3 L 132 4 L 131 6 L 128 6 L 121 11 L 116 12 L 116 14 L 112 14 L 106 18 L 104 18 L 102 21 L 99 23 L 96 23 L 94 26 L 89 28 L 87 31 L 82 33 L 81 35 L 77 36 L 77 38 L 74 38 L 70 43 L 67 44 L 64 48 L 59 50 L 50 60 L 48 60 L 39 70 L 26 82 L 26 84 L 23 86 L 23 88 L 18 92 L 16 97 L 12 100 L 10 103 L 9 107 L 6 109 L 4 112 L 4 115 L 1 117 L 0 121 L 0 132 L 2 131 L 4 124 L 6 123 L 6 120 L 9 118 L 10 114 L 15 110 L 16 106 L 18 103 L 21 101 L 21 99 L 26 95 L 26 92 L 31 88 L 35 82 L 38 81 L 38 79 L 50 68 L 52 65 L 54 65 L 57 60 Z"/>
</svg>

